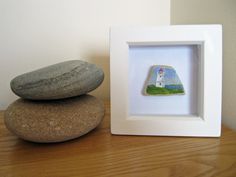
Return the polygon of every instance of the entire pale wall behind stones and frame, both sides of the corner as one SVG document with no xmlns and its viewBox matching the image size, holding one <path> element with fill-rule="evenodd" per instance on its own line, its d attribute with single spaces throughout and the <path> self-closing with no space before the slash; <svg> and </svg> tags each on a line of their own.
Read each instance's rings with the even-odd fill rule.
<svg viewBox="0 0 236 177">
<path fill-rule="evenodd" d="M 18 74 L 71 59 L 105 71 L 95 96 L 109 99 L 109 27 L 168 25 L 170 0 L 0 0 L 0 109 Z M 236 129 L 236 1 L 171 0 L 172 24 L 223 24 L 223 122 Z"/>
</svg>

